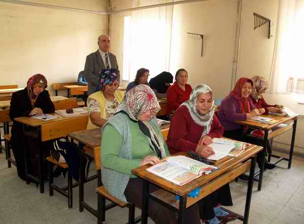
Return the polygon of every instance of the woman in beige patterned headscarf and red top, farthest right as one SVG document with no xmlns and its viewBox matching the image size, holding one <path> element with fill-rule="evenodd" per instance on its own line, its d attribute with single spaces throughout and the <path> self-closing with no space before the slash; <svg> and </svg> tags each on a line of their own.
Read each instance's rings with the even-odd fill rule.
<svg viewBox="0 0 304 224">
<path fill-rule="evenodd" d="M 269 88 L 269 84 L 266 79 L 261 76 L 253 76 L 251 78 L 253 85 L 251 90 L 251 95 L 249 96 L 250 100 L 254 104 L 255 108 L 264 108 L 265 113 L 281 113 L 281 108 L 283 105 L 269 105 L 263 98 L 263 93 Z"/>
</svg>

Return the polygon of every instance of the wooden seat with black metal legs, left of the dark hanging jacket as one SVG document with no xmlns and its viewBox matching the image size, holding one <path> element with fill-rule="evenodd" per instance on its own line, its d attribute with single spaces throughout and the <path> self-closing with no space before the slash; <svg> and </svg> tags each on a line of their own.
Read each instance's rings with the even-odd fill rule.
<svg viewBox="0 0 304 224">
<path fill-rule="evenodd" d="M 50 196 L 54 195 L 54 190 L 58 193 L 62 194 L 64 197 L 68 200 L 68 207 L 73 207 L 73 180 L 72 180 L 72 174 L 67 169 L 68 165 L 67 163 L 58 163 L 55 159 L 53 159 L 52 156 L 48 156 L 46 160 L 49 163 L 49 189 L 50 189 Z M 57 165 L 63 169 L 67 169 L 67 187 L 59 188 L 57 185 L 54 184 L 53 180 L 53 166 Z M 77 186 L 74 185 L 74 187 Z"/>
</svg>

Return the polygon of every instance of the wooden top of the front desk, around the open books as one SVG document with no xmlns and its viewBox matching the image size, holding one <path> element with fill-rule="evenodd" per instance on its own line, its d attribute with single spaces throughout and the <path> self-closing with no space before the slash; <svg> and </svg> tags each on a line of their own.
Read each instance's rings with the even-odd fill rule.
<svg viewBox="0 0 304 224">
<path fill-rule="evenodd" d="M 137 167 L 132 170 L 132 173 L 135 174 L 136 176 L 143 178 L 144 180 L 146 180 L 150 183 L 153 183 L 153 184 L 171 192 L 172 194 L 177 194 L 177 195 L 183 196 L 185 194 L 188 194 L 192 190 L 209 183 L 217 176 L 232 169 L 233 167 L 237 166 L 241 162 L 252 157 L 253 155 L 255 155 L 256 153 L 258 153 L 261 150 L 262 150 L 261 146 L 252 145 L 244 153 L 242 153 L 241 155 L 239 155 L 236 158 L 226 156 L 226 157 L 222 158 L 221 160 L 218 160 L 215 163 L 215 166 L 219 167 L 218 170 L 210 173 L 209 175 L 203 174 L 196 180 L 189 182 L 188 184 L 185 184 L 183 186 L 175 185 L 175 184 L 171 183 L 170 181 L 167 181 L 164 178 L 159 177 L 159 176 L 155 175 L 154 173 L 147 171 L 146 168 L 150 167 L 151 165 L 144 165 L 144 166 Z M 186 155 L 186 153 L 180 152 L 175 155 Z"/>
</svg>

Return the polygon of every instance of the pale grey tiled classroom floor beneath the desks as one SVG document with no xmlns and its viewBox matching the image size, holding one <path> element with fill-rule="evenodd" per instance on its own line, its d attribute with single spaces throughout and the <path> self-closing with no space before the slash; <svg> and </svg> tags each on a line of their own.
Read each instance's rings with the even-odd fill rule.
<svg viewBox="0 0 304 224">
<path fill-rule="evenodd" d="M 284 153 L 287 149 L 275 145 L 275 151 Z M 258 192 L 257 183 L 254 183 L 249 223 L 304 223 L 304 152 L 297 149 L 291 169 L 286 167 L 287 162 L 282 161 L 278 168 L 265 172 L 262 191 Z M 56 181 L 62 185 L 65 183 L 62 175 Z M 95 208 L 96 186 L 97 181 L 85 186 L 86 201 Z M 239 180 L 230 186 L 235 205 L 229 209 L 243 213 L 247 182 Z M 5 154 L 0 154 L 0 223 L 97 223 L 97 218 L 88 211 L 79 212 L 78 188 L 73 191 L 73 208 L 68 209 L 67 200 L 62 195 L 55 192 L 50 197 L 48 184 L 45 187 L 45 193 L 40 194 L 34 184 L 26 185 L 17 177 L 14 166 L 7 168 Z M 106 223 L 125 223 L 127 216 L 126 208 L 116 207 L 106 212 Z M 153 221 L 149 220 L 149 223 Z"/>
</svg>

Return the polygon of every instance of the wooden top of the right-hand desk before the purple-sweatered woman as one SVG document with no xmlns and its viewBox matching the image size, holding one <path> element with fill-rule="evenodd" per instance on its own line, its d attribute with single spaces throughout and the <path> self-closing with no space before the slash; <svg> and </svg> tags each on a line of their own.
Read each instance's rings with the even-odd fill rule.
<svg viewBox="0 0 304 224">
<path fill-rule="evenodd" d="M 282 116 L 276 116 L 276 115 L 260 115 L 260 116 L 275 119 L 275 120 L 277 120 L 277 122 L 274 124 L 265 124 L 265 123 L 260 123 L 260 122 L 254 122 L 251 120 L 244 120 L 244 121 L 236 121 L 236 123 L 241 124 L 241 125 L 247 125 L 249 127 L 259 128 L 262 130 L 270 130 L 273 127 L 275 127 L 281 123 L 296 119 L 296 117 L 298 115 L 294 115 L 291 117 L 282 117 Z"/>
</svg>

